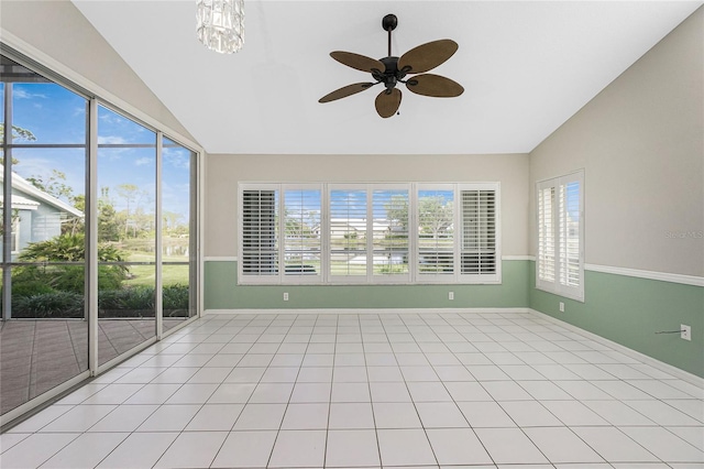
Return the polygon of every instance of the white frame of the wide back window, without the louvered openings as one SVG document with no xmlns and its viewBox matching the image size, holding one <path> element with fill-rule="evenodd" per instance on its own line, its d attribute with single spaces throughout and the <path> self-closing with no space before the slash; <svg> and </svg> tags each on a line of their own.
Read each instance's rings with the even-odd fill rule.
<svg viewBox="0 0 704 469">
<path fill-rule="evenodd" d="M 284 194 L 288 189 L 319 189 L 320 200 L 320 246 L 321 268 L 319 275 L 286 275 L 284 263 Z M 333 275 L 331 272 L 331 193 L 332 190 L 362 190 L 366 194 L 366 243 L 365 275 Z M 275 190 L 278 194 L 278 271 L 273 275 L 245 275 L 243 273 L 243 194 L 245 190 Z M 408 273 L 378 274 L 374 273 L 374 192 L 378 190 L 407 190 L 408 192 Z M 446 274 L 420 273 L 418 265 L 418 194 L 420 190 L 452 190 L 453 194 L 453 240 L 452 240 L 452 272 Z M 494 247 L 495 259 L 492 272 L 462 273 L 462 223 L 461 197 L 463 190 L 493 190 L 494 192 Z M 238 184 L 238 283 L 239 284 L 338 284 L 338 285 L 388 285 L 388 284 L 501 284 L 502 283 L 502 234 L 501 234 L 501 184 L 499 183 L 330 183 L 330 184 L 287 184 L 287 183 L 239 183 Z"/>
</svg>

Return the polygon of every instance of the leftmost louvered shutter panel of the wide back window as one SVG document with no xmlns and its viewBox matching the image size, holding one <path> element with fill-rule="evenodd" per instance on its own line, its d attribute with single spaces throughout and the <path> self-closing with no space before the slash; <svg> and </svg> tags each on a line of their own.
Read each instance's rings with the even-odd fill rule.
<svg viewBox="0 0 704 469">
<path fill-rule="evenodd" d="M 278 275 L 278 190 L 242 190 L 241 275 Z"/>
</svg>

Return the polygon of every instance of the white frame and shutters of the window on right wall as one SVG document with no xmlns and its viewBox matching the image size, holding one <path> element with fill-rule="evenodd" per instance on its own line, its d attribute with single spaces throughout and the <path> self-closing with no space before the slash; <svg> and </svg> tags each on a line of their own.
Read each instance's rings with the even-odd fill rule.
<svg viewBox="0 0 704 469">
<path fill-rule="evenodd" d="M 576 265 L 578 284 L 571 285 L 565 280 L 569 258 L 566 246 L 569 239 L 565 232 L 568 207 L 560 203 L 560 190 L 566 190 L 568 185 L 576 183 L 579 185 L 579 220 L 578 220 L 578 242 L 579 260 Z M 551 214 L 550 219 L 543 222 L 543 210 L 541 195 L 544 190 L 551 190 Z M 536 288 L 566 298 L 584 302 L 584 171 L 553 177 L 551 179 L 536 183 Z M 548 225 L 549 223 L 549 225 Z M 544 230 L 549 230 L 552 236 L 552 246 L 546 246 L 543 239 Z M 562 248 L 561 248 L 562 247 Z M 564 252 L 561 252 L 564 249 Z M 541 274 L 541 268 L 548 269 L 552 273 L 552 279 Z"/>
</svg>

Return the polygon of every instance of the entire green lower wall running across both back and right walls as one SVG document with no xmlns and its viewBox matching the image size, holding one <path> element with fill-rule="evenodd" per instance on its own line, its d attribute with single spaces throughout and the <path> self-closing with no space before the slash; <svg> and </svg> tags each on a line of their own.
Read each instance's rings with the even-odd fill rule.
<svg viewBox="0 0 704 469">
<path fill-rule="evenodd" d="M 535 262 L 503 261 L 501 285 L 238 285 L 234 261 L 205 264 L 206 309 L 530 307 L 704 378 L 704 287 L 585 272 L 585 302 L 535 288 Z M 448 292 L 454 299 L 448 299 Z M 284 292 L 289 301 L 284 302 Z M 565 304 L 564 313 L 559 304 Z M 692 327 L 692 341 L 679 334 Z"/>
</svg>

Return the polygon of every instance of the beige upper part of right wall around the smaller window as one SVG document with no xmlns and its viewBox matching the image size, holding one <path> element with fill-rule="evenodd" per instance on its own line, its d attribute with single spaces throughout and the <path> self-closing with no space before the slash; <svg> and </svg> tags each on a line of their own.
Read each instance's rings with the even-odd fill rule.
<svg viewBox="0 0 704 469">
<path fill-rule="evenodd" d="M 704 275 L 703 78 L 700 8 L 530 153 L 531 254 L 535 183 L 584 168 L 587 264 Z"/>
</svg>

